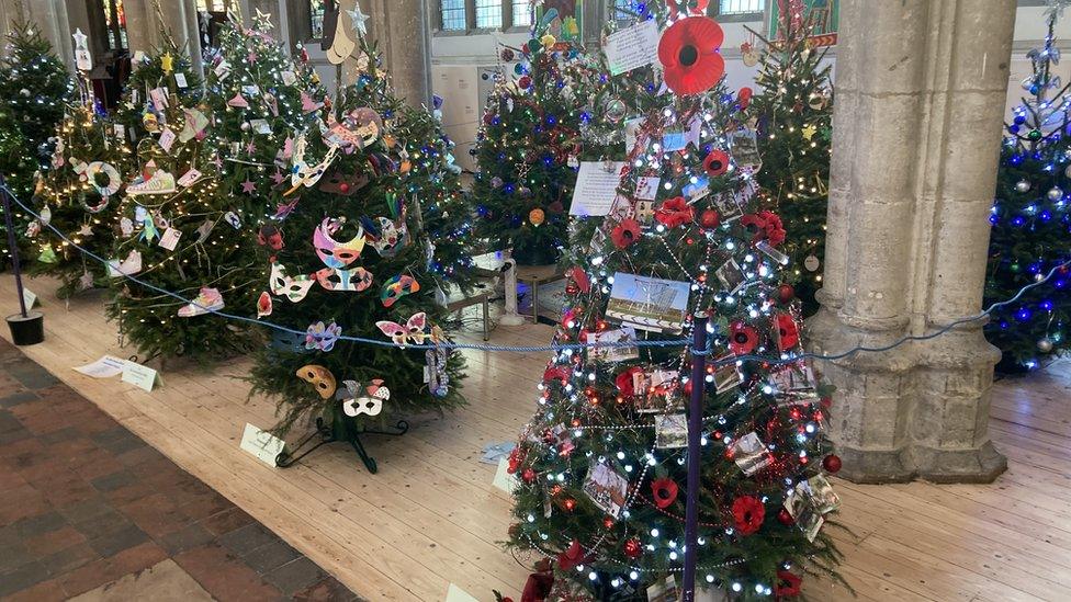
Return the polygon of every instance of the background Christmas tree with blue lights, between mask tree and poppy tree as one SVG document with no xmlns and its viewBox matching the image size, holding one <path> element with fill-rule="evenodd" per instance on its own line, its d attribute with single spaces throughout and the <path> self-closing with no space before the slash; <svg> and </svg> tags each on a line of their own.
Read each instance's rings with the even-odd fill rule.
<svg viewBox="0 0 1071 602">
<path fill-rule="evenodd" d="M 598 79 L 579 47 L 575 20 L 550 33 L 557 12 L 541 13 L 520 54 L 516 76 L 501 73 L 488 98 L 472 150 L 480 164 L 472 188 L 475 231 L 494 249 L 512 248 L 522 264 L 557 261 L 566 246 L 568 204 L 591 118 Z"/>
</svg>

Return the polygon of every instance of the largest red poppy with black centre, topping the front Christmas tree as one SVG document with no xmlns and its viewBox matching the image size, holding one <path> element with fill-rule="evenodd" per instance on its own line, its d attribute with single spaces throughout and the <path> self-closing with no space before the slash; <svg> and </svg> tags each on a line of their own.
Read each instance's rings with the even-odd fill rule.
<svg viewBox="0 0 1071 602">
<path fill-rule="evenodd" d="M 718 52 L 724 38 L 721 25 L 706 16 L 688 16 L 670 25 L 658 41 L 666 87 L 678 95 L 713 88 L 725 72 L 725 59 Z"/>
</svg>

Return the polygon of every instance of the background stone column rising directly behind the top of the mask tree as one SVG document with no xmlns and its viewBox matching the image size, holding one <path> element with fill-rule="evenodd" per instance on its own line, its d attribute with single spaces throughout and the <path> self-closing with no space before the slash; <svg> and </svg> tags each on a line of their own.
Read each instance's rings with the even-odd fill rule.
<svg viewBox="0 0 1071 602">
<path fill-rule="evenodd" d="M 351 2 L 342 2 L 349 8 Z M 431 104 L 431 26 L 426 0 L 360 0 L 369 34 L 398 96 L 410 106 Z"/>
</svg>

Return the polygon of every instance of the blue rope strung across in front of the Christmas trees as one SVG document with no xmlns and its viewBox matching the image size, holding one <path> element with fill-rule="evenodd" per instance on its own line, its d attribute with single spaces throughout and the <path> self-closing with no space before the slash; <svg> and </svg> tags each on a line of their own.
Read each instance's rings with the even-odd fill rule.
<svg viewBox="0 0 1071 602">
<path fill-rule="evenodd" d="M 11 200 L 14 201 L 16 205 L 19 205 L 20 207 L 22 207 L 23 211 L 25 211 L 27 214 L 32 215 L 33 217 L 37 218 L 38 222 L 41 220 L 41 215 L 37 214 L 36 212 L 34 212 L 29 206 L 26 206 L 22 201 L 20 201 L 19 197 L 15 196 L 15 194 L 11 191 L 11 189 L 9 189 L 5 185 L 0 186 L 0 189 L 4 190 L 10 195 Z M 84 255 L 87 255 L 87 257 L 89 257 L 89 258 L 98 261 L 99 263 L 101 263 L 101 264 L 103 264 L 105 266 L 109 264 L 109 261 L 106 259 L 103 259 L 100 255 L 93 253 L 92 251 L 82 248 L 81 246 L 79 246 L 78 243 L 76 243 L 75 241 L 72 241 L 71 239 L 67 238 L 67 236 L 64 235 L 64 232 L 61 232 L 58 228 L 56 228 L 52 224 L 47 224 L 46 227 L 49 230 L 54 231 L 59 238 L 61 238 L 65 242 L 67 242 L 69 246 L 71 246 L 75 249 L 77 249 L 82 254 L 84 254 Z M 15 249 L 12 249 L 12 252 L 15 252 Z M 1036 282 L 1033 282 L 1030 284 L 1027 284 L 1026 286 L 1024 286 L 1023 288 L 1021 288 L 1019 292 L 1016 293 L 1014 297 L 1012 297 L 1012 298 L 1010 298 L 1007 300 L 994 303 L 993 305 L 989 306 L 985 310 L 981 311 L 980 314 L 977 314 L 974 316 L 970 316 L 970 317 L 967 317 L 967 318 L 960 318 L 958 320 L 955 320 L 955 321 L 952 321 L 952 322 L 950 322 L 948 325 L 945 325 L 945 326 L 938 328 L 937 330 L 935 330 L 935 331 L 933 331 L 933 332 L 931 332 L 928 334 L 914 334 L 914 336 L 901 337 L 900 339 L 895 340 L 894 342 L 889 343 L 887 345 L 881 345 L 881 347 L 864 347 L 864 345 L 857 345 L 855 348 L 852 348 L 852 349 L 849 349 L 847 351 L 844 351 L 844 352 L 841 352 L 841 353 L 800 353 L 800 354 L 790 355 L 788 357 L 777 359 L 777 360 L 774 360 L 774 359 L 770 359 L 770 357 L 766 357 L 766 356 L 763 356 L 763 355 L 734 355 L 733 357 L 730 357 L 730 359 L 708 361 L 707 363 L 708 364 L 711 364 L 711 365 L 720 366 L 720 365 L 728 365 L 728 364 L 732 364 L 732 363 L 736 363 L 736 362 L 741 362 L 741 361 L 747 361 L 747 360 L 766 362 L 768 364 L 774 364 L 774 365 L 794 364 L 794 363 L 800 362 L 802 360 L 835 361 L 835 360 L 843 360 L 843 359 L 848 357 L 848 356 L 852 356 L 852 355 L 854 355 L 856 353 L 882 353 L 882 352 L 886 352 L 886 351 L 891 351 L 891 350 L 893 350 L 893 349 L 895 349 L 895 348 L 898 348 L 898 347 L 900 347 L 902 344 L 909 343 L 909 342 L 914 342 L 914 341 L 928 341 L 931 339 L 936 339 L 937 337 L 940 337 L 943 334 L 946 334 L 947 332 L 951 331 L 956 327 L 959 327 L 959 326 L 962 326 L 962 325 L 966 325 L 966 323 L 970 323 L 970 322 L 974 322 L 974 321 L 978 321 L 978 320 L 985 319 L 990 314 L 992 314 L 997 308 L 1004 307 L 1005 305 L 1011 305 L 1011 304 L 1017 302 L 1018 299 L 1021 299 L 1023 297 L 1023 295 L 1026 294 L 1027 291 L 1029 291 L 1030 288 L 1034 288 L 1034 287 L 1037 287 L 1037 286 L 1040 286 L 1040 285 L 1045 284 L 1053 275 L 1056 275 L 1056 273 L 1059 270 L 1064 269 L 1064 268 L 1068 268 L 1068 266 L 1071 266 L 1071 260 L 1068 260 L 1068 261 L 1066 261 L 1063 263 L 1060 263 L 1058 265 L 1055 265 L 1051 270 L 1049 270 L 1048 274 L 1046 274 L 1046 276 L 1044 279 L 1038 280 Z M 221 318 L 226 318 L 228 320 L 237 320 L 237 321 L 247 322 L 247 323 L 255 323 L 255 325 L 258 325 L 258 326 L 263 326 L 263 327 L 272 328 L 272 329 L 278 330 L 280 332 L 286 332 L 286 333 L 290 333 L 290 334 L 296 334 L 296 336 L 301 336 L 301 337 L 304 337 L 306 334 L 306 332 L 304 330 L 295 330 L 293 328 L 290 328 L 290 327 L 286 327 L 286 326 L 282 326 L 282 325 L 278 325 L 278 323 L 274 323 L 274 322 L 259 320 L 259 319 L 255 319 L 255 318 L 249 318 L 247 316 L 238 316 L 238 315 L 235 315 L 235 314 L 228 314 L 226 311 L 219 311 L 218 309 L 212 309 L 212 308 L 208 308 L 208 307 L 204 307 L 204 306 L 198 304 L 196 302 L 194 302 L 192 299 L 188 299 L 188 298 L 183 297 L 182 295 L 179 295 L 178 293 L 172 293 L 172 292 L 167 291 L 165 288 L 160 288 L 159 286 L 156 286 L 154 284 L 149 284 L 149 283 L 147 283 L 147 282 L 145 282 L 145 281 L 143 281 L 143 280 L 140 280 L 140 279 L 132 275 L 132 274 L 122 274 L 122 276 L 125 277 L 126 280 L 129 280 L 129 281 L 132 281 L 132 282 L 140 285 L 140 286 L 144 286 L 145 288 L 148 288 L 149 291 L 154 291 L 154 292 L 159 293 L 161 295 L 166 295 L 166 296 L 172 297 L 172 298 L 174 298 L 174 299 L 177 299 L 177 300 L 179 300 L 179 302 L 181 302 L 183 304 L 194 305 L 196 307 L 200 307 L 201 309 L 204 309 L 205 311 L 207 311 L 210 314 L 214 314 L 216 316 L 219 316 Z M 399 345 L 397 345 L 396 343 L 394 343 L 394 341 L 384 341 L 384 340 L 381 340 L 381 339 L 368 339 L 365 337 L 351 337 L 351 336 L 348 336 L 348 334 L 340 334 L 338 337 L 338 340 L 340 340 L 340 341 L 350 341 L 350 342 L 361 343 L 361 344 L 371 344 L 371 345 L 376 345 L 376 347 L 399 348 Z M 704 350 L 692 350 L 692 355 L 703 355 L 703 356 L 710 355 L 713 352 L 713 350 L 711 348 L 711 344 L 712 343 L 708 343 L 708 347 Z M 691 342 L 688 339 L 665 339 L 665 340 L 659 340 L 659 341 L 631 341 L 631 342 L 610 342 L 610 341 L 607 341 L 607 342 L 599 342 L 599 343 L 557 343 L 557 344 L 548 344 L 548 345 L 495 345 L 495 344 L 487 344 L 487 343 L 455 343 L 455 342 L 446 342 L 446 343 L 439 343 L 439 344 L 433 344 L 432 343 L 432 344 L 407 344 L 407 345 L 405 345 L 406 349 L 419 349 L 419 350 L 428 350 L 428 349 L 467 349 L 467 350 L 473 350 L 473 351 L 501 351 L 501 352 L 512 352 L 512 353 L 549 352 L 549 351 L 561 352 L 561 351 L 566 351 L 566 350 L 579 351 L 579 350 L 583 350 L 583 349 L 669 348 L 669 347 L 691 347 Z"/>
</svg>

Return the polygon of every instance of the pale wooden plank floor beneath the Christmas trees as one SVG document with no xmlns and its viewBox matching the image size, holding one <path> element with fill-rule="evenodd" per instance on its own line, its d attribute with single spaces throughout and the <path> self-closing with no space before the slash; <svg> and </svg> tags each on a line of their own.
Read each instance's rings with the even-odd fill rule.
<svg viewBox="0 0 1071 602">
<path fill-rule="evenodd" d="M 47 340 L 23 351 L 123 424 L 274 530 L 371 600 L 446 598 L 450 583 L 480 600 L 517 595 L 526 569 L 497 542 L 508 497 L 478 458 L 511 440 L 529 417 L 545 354 L 467 352 L 471 405 L 446 419 L 418 419 L 399 439 L 371 442 L 369 475 L 341 446 L 273 469 L 238 448 L 247 422 L 273 423 L 272 406 L 247 402 L 236 361 L 214 373 L 166 372 L 144 393 L 117 378 L 71 370 L 119 348 L 101 302 L 69 306 L 55 285 L 33 281 L 45 303 Z M 16 310 L 13 281 L 0 276 L 0 311 Z M 9 337 L 7 328 L 2 334 Z M 499 327 L 493 342 L 538 344 L 542 326 Z M 221 333 L 223 336 L 223 333 Z M 478 336 L 473 333 L 472 340 Z M 993 439 L 1008 472 L 989 486 L 836 484 L 847 556 L 843 571 L 861 600 L 1068 600 L 1071 588 L 1071 362 L 997 385 Z M 810 583 L 815 600 L 850 600 Z"/>
</svg>

